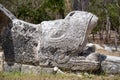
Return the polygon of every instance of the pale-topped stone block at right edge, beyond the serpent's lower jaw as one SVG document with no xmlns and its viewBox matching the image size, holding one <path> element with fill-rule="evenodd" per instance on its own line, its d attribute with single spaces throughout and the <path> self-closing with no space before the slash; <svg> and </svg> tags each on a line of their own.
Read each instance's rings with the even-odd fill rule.
<svg viewBox="0 0 120 80">
<path fill-rule="evenodd" d="M 106 59 L 101 63 L 102 70 L 110 74 L 120 73 L 120 57 L 106 56 Z"/>
</svg>

